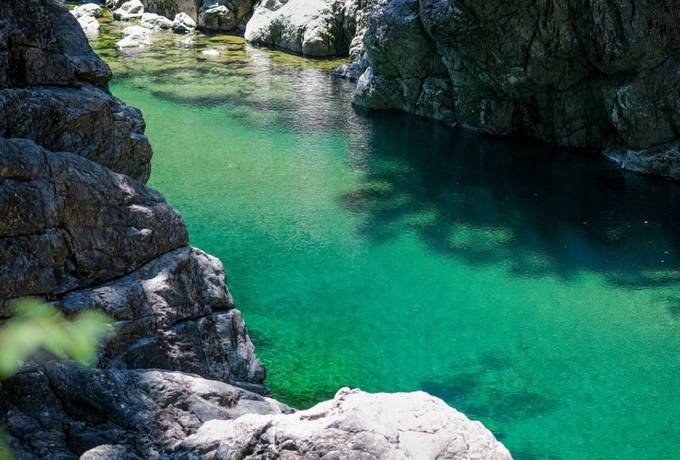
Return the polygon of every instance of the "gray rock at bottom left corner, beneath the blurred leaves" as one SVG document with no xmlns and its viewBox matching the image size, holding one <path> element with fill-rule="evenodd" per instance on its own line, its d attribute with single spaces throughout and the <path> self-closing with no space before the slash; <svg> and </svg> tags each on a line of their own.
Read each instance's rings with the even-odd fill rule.
<svg viewBox="0 0 680 460">
<path fill-rule="evenodd" d="M 35 364 L 0 387 L 0 423 L 22 460 L 157 458 L 211 420 L 288 407 L 196 375 Z"/>
</svg>

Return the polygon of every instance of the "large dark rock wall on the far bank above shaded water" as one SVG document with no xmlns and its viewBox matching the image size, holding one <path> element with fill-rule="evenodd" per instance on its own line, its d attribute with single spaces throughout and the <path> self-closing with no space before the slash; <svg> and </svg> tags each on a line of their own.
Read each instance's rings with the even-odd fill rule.
<svg viewBox="0 0 680 460">
<path fill-rule="evenodd" d="M 388 0 L 370 23 L 355 104 L 680 178 L 680 3 Z"/>
</svg>

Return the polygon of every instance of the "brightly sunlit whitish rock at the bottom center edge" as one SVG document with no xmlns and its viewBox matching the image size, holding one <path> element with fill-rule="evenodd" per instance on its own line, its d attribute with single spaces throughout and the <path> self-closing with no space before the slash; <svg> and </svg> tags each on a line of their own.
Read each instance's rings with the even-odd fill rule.
<svg viewBox="0 0 680 460">
<path fill-rule="evenodd" d="M 479 422 L 427 393 L 341 389 L 333 400 L 290 415 L 213 420 L 184 439 L 184 452 L 231 459 L 510 459 Z"/>
</svg>

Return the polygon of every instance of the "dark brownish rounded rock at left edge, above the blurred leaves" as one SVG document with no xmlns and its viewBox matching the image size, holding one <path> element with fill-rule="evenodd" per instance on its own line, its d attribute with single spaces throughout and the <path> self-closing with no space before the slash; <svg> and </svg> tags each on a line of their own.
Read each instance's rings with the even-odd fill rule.
<svg viewBox="0 0 680 460">
<path fill-rule="evenodd" d="M 0 139 L 0 298 L 124 276 L 186 244 L 162 195 L 85 158 Z"/>
</svg>

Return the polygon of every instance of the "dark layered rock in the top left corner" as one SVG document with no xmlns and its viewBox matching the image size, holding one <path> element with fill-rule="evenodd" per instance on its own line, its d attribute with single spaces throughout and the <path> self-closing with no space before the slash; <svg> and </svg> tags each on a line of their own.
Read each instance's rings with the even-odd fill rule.
<svg viewBox="0 0 680 460">
<path fill-rule="evenodd" d="M 2 2 L 0 136 L 77 153 L 146 182 L 151 146 L 144 120 L 108 93 L 110 79 L 66 7 Z"/>
</svg>

